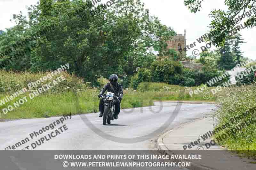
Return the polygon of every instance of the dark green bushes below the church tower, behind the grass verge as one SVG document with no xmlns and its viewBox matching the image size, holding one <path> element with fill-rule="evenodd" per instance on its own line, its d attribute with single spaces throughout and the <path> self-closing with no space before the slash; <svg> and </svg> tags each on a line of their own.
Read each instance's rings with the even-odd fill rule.
<svg viewBox="0 0 256 170">
<path fill-rule="evenodd" d="M 199 86 L 206 84 L 214 77 L 219 77 L 224 72 L 204 66 L 202 70 L 191 70 L 183 68 L 180 62 L 174 61 L 156 61 L 152 63 L 151 70 L 140 69 L 136 75 L 131 78 L 131 88 L 137 89 L 141 82 L 152 81 L 162 82 L 171 85 Z M 214 84 L 214 86 L 227 81 L 229 76 Z"/>
</svg>

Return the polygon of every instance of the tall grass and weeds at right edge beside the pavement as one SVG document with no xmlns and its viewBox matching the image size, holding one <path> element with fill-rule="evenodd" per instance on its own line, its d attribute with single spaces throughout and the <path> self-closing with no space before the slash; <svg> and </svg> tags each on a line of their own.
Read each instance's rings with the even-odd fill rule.
<svg viewBox="0 0 256 170">
<path fill-rule="evenodd" d="M 256 150 L 255 122 L 250 123 L 245 127 L 242 126 L 243 128 L 241 128 L 241 130 L 237 130 L 236 133 L 231 130 L 231 128 L 236 128 L 236 126 L 241 124 L 241 122 L 248 122 L 250 118 L 254 118 L 255 121 L 255 98 L 256 86 L 254 84 L 241 87 L 226 88 L 221 92 L 221 95 L 217 98 L 217 102 L 220 102 L 221 105 L 214 116 L 218 120 L 216 122 L 217 126 L 222 126 L 226 123 L 229 123 L 230 126 L 219 132 L 217 135 L 215 135 L 215 137 L 221 137 L 223 133 L 231 133 L 227 138 L 219 141 L 220 145 L 224 145 L 230 150 Z M 243 114 L 246 112 L 249 114 L 244 116 Z M 236 121 L 233 122 L 231 117 L 237 117 L 238 115 L 242 115 L 242 118 L 236 119 Z"/>
</svg>

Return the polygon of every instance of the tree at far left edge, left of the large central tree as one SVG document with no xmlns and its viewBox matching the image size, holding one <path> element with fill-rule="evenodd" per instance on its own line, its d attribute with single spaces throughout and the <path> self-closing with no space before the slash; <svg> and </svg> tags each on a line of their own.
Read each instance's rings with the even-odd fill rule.
<svg viewBox="0 0 256 170">
<path fill-rule="evenodd" d="M 0 36 L 0 67 L 5 70 L 26 70 L 30 68 L 30 52 L 33 42 L 25 42 L 28 36 L 28 21 L 20 14 L 13 15 L 16 25 Z"/>
</svg>

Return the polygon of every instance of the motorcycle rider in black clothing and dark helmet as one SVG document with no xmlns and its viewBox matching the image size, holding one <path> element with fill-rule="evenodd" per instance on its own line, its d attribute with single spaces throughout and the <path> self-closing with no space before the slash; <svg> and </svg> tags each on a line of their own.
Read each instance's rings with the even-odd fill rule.
<svg viewBox="0 0 256 170">
<path fill-rule="evenodd" d="M 120 102 L 118 100 L 115 100 L 115 113 L 114 113 L 114 118 L 118 119 L 118 115 L 120 113 L 120 104 L 121 104 L 121 100 L 123 99 L 123 87 L 122 85 L 120 85 L 119 83 L 117 83 L 118 77 L 116 74 L 111 74 L 109 76 L 109 83 L 107 83 L 106 85 L 104 85 L 104 87 L 101 89 L 100 94 L 98 95 L 98 97 L 100 98 L 104 92 L 106 92 L 106 90 L 108 90 L 108 92 L 113 92 L 115 93 L 115 95 L 117 96 L 118 100 L 120 100 Z M 104 98 L 100 99 L 100 103 L 99 103 L 99 110 L 100 110 L 100 115 L 99 117 L 103 116 L 103 112 L 104 112 Z"/>
</svg>

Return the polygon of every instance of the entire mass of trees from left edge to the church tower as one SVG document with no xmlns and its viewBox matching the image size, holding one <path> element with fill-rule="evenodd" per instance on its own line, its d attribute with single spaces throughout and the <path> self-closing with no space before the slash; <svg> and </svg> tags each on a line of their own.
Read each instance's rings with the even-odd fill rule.
<svg viewBox="0 0 256 170">
<path fill-rule="evenodd" d="M 5 70 L 47 71 L 69 63 L 69 73 L 94 86 L 100 85 L 98 78 L 112 73 L 122 79 L 128 76 L 123 80 L 127 84 L 138 68 L 156 61 L 155 51 L 162 55 L 168 51 L 165 41 L 175 35 L 157 17 L 149 16 L 140 0 L 116 0 L 107 8 L 94 7 L 90 0 L 40 0 L 28 7 L 28 19 L 22 13 L 13 19 L 17 25 L 0 37 Z M 45 31 L 52 23 L 54 27 Z M 16 42 L 34 35 L 12 49 Z M 12 53 L 2 55 L 9 47 Z"/>
</svg>

